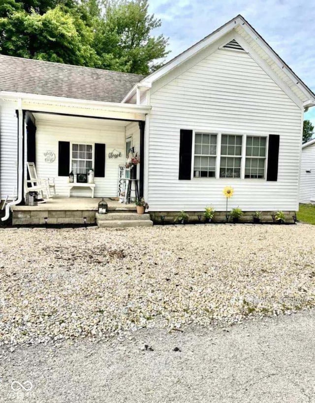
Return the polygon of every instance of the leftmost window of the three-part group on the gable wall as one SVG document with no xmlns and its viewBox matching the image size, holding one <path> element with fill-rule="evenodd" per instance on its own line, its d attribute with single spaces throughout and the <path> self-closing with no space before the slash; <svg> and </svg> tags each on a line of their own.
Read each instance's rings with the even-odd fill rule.
<svg viewBox="0 0 315 403">
<path fill-rule="evenodd" d="M 217 135 L 195 133 L 193 176 L 216 177 Z"/>
</svg>

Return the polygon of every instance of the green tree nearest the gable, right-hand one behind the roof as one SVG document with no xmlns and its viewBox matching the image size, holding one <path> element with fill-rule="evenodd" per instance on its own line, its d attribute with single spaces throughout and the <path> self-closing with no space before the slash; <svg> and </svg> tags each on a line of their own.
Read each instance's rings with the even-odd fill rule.
<svg viewBox="0 0 315 403">
<path fill-rule="evenodd" d="M 110 60 L 123 63 L 125 71 L 130 73 L 147 75 L 160 67 L 161 62 L 157 60 L 169 53 L 168 39 L 151 35 L 153 29 L 161 26 L 161 21 L 149 14 L 148 7 L 148 0 L 107 1 L 95 35 L 97 54 L 112 55 Z M 108 66 L 108 62 L 108 57 L 104 57 L 102 67 L 116 69 Z"/>
</svg>

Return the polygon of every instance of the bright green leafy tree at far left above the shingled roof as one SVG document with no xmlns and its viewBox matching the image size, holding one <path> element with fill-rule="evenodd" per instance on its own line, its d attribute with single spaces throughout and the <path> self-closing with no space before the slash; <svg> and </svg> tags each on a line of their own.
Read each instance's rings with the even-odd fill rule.
<svg viewBox="0 0 315 403">
<path fill-rule="evenodd" d="M 93 30 L 80 15 L 60 6 L 43 15 L 23 10 L 0 18 L 0 51 L 5 55 L 95 67 L 100 61 L 93 40 Z"/>
</svg>

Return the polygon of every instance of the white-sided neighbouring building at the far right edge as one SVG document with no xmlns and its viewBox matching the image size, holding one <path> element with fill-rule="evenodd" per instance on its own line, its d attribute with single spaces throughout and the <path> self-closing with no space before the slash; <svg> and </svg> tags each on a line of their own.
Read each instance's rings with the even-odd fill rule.
<svg viewBox="0 0 315 403">
<path fill-rule="evenodd" d="M 311 201 L 315 201 L 315 144 L 302 148 L 301 159 L 300 202 Z"/>
</svg>

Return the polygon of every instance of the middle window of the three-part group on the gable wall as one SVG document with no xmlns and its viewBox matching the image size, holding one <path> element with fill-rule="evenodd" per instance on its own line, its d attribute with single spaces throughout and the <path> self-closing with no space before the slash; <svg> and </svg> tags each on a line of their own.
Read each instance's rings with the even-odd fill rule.
<svg viewBox="0 0 315 403">
<path fill-rule="evenodd" d="M 231 134 L 221 136 L 221 178 L 240 178 L 242 162 L 242 137 Z"/>
</svg>

